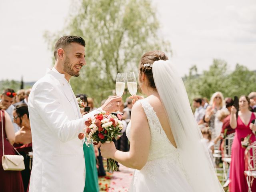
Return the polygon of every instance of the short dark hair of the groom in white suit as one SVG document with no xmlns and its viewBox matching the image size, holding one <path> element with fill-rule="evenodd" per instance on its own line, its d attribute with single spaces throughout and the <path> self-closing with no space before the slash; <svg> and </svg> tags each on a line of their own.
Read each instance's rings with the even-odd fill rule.
<svg viewBox="0 0 256 192">
<path fill-rule="evenodd" d="M 66 35 L 58 39 L 54 46 L 54 58 L 57 59 L 57 51 L 59 48 L 64 48 L 70 43 L 79 43 L 85 47 L 85 41 L 82 37 Z"/>
</svg>

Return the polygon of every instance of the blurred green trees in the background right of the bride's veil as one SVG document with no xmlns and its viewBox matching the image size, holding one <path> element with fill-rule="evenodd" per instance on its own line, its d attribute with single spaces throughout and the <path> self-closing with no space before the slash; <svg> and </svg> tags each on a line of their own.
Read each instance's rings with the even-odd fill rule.
<svg viewBox="0 0 256 192">
<path fill-rule="evenodd" d="M 217 91 L 222 92 L 224 97 L 248 95 L 256 90 L 256 73 L 240 64 L 236 64 L 235 70 L 230 72 L 224 60 L 214 59 L 209 70 L 201 75 L 197 74 L 196 66 L 192 66 L 184 84 L 190 101 L 195 97 L 210 99 Z"/>
</svg>

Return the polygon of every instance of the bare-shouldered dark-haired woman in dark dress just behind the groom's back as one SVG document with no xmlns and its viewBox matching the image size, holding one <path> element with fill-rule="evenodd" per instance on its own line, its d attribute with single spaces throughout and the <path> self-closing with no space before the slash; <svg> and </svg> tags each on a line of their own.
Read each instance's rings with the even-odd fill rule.
<svg viewBox="0 0 256 192">
<path fill-rule="evenodd" d="M 32 159 L 28 156 L 28 152 L 32 152 L 32 134 L 30 129 L 30 121 L 28 114 L 28 106 L 25 103 L 15 106 L 13 110 L 13 119 L 20 126 L 20 130 L 15 133 L 16 150 L 24 157 L 25 169 L 21 171 L 24 191 L 27 191 L 30 180 L 30 166 Z"/>
</svg>

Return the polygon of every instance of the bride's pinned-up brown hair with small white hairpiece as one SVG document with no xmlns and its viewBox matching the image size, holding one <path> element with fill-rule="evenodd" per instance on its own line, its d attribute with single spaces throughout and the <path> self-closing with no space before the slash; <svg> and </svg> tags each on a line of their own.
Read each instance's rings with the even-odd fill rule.
<svg viewBox="0 0 256 192">
<path fill-rule="evenodd" d="M 164 52 L 160 50 L 149 51 L 149 52 L 146 52 L 141 57 L 140 66 L 139 66 L 139 70 L 140 70 L 139 79 L 141 78 L 141 74 L 143 72 L 148 78 L 148 82 L 149 82 L 148 86 L 154 89 L 156 88 L 156 85 L 155 85 L 153 73 L 152 73 L 152 64 L 158 60 L 168 60 L 168 57 Z"/>
</svg>

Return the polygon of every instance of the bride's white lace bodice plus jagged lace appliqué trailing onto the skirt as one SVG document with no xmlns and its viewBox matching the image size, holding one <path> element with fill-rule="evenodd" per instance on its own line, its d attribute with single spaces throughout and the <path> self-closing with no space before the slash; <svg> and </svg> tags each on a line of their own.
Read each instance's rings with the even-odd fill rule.
<svg viewBox="0 0 256 192">
<path fill-rule="evenodd" d="M 134 184 L 138 180 L 139 174 L 147 175 L 155 184 L 157 184 L 156 172 L 168 174 L 173 171 L 172 166 L 178 168 L 183 175 L 186 175 L 184 168 L 179 161 L 179 150 L 175 148 L 166 136 L 156 112 L 146 100 L 139 100 L 148 119 L 151 140 L 148 154 L 148 161 L 141 170 L 134 173 Z M 130 123 L 126 128 L 126 136 L 130 140 Z M 172 165 L 172 166 L 170 166 Z"/>
</svg>

